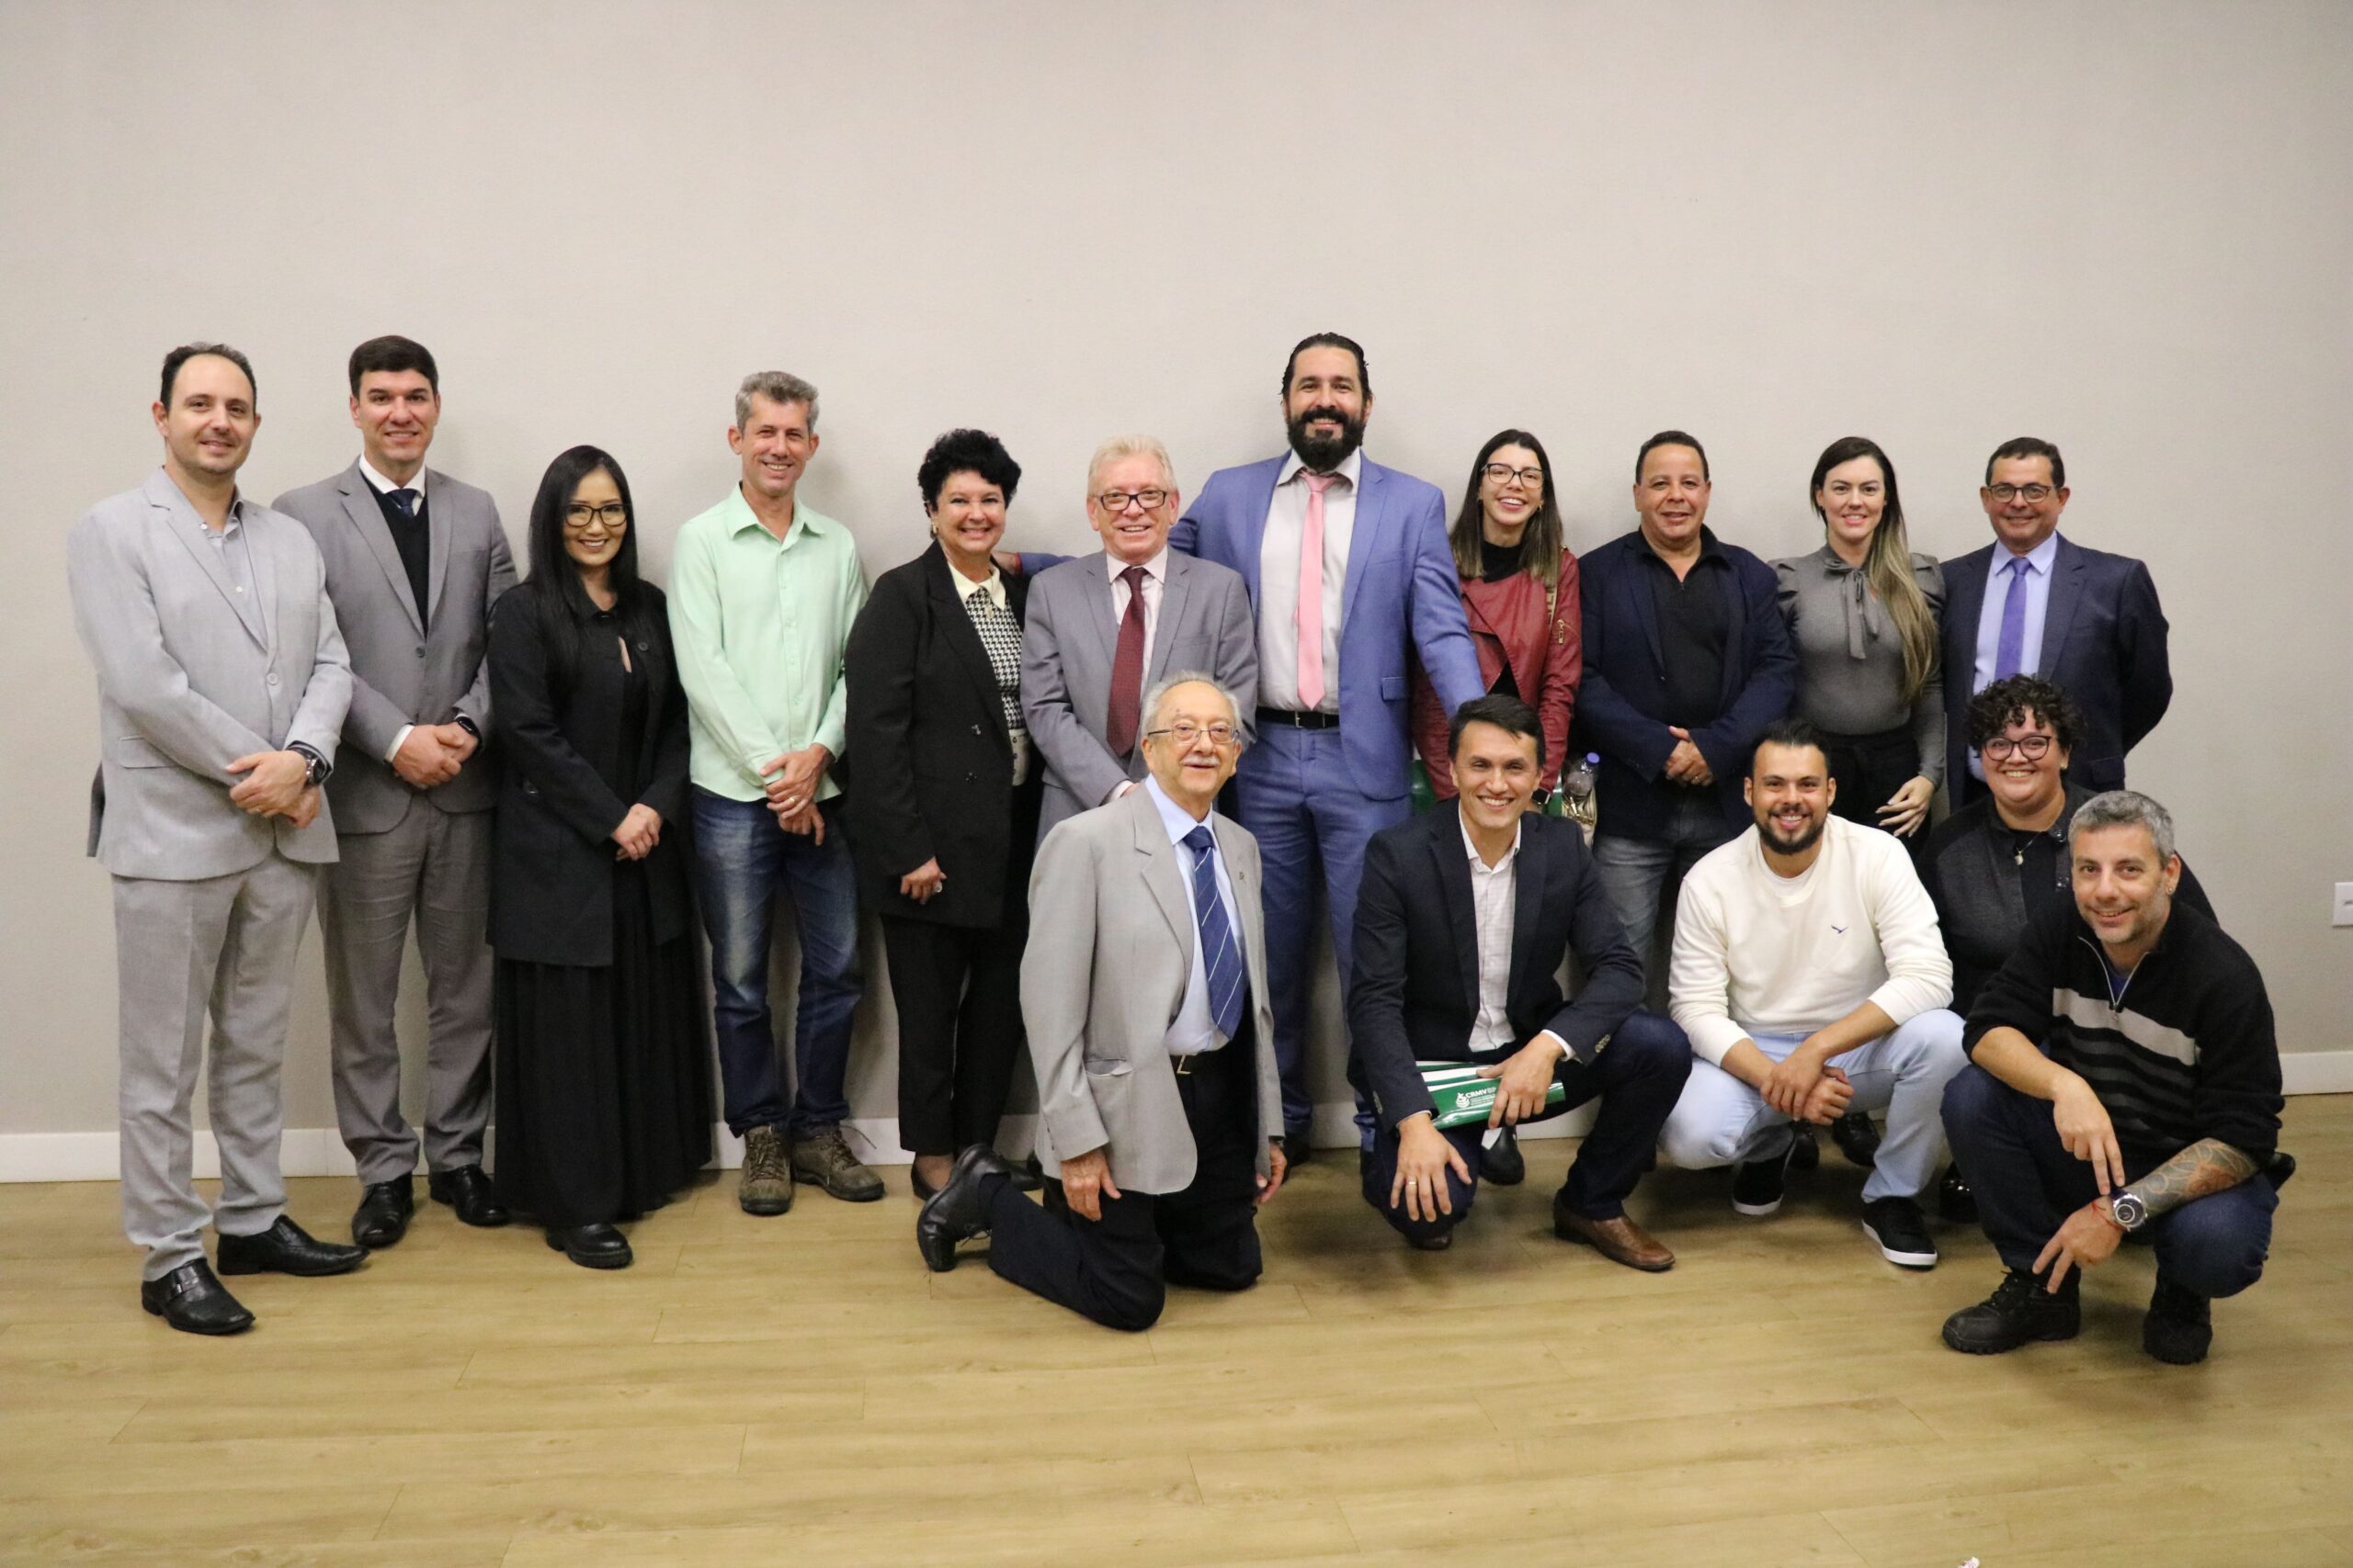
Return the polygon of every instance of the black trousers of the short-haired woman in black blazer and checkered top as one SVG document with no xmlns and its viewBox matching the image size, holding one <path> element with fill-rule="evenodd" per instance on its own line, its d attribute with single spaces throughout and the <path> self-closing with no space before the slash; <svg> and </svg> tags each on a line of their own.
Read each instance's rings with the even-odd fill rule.
<svg viewBox="0 0 2353 1568">
<path fill-rule="evenodd" d="M 1026 938 L 1026 919 L 944 926 L 882 917 L 899 1006 L 899 1143 L 915 1154 L 995 1143 L 1021 1063 Z"/>
</svg>

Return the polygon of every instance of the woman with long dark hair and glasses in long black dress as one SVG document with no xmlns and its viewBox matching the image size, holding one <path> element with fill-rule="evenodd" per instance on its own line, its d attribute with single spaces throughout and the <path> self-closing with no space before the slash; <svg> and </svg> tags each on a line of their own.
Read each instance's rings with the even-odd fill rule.
<svg viewBox="0 0 2353 1568">
<path fill-rule="evenodd" d="M 532 576 L 489 623 L 504 762 L 489 896 L 496 1185 L 591 1269 L 614 1220 L 711 1159 L 711 1016 L 687 891 L 687 701 L 638 578 L 621 465 L 574 447 L 532 501 Z"/>
</svg>

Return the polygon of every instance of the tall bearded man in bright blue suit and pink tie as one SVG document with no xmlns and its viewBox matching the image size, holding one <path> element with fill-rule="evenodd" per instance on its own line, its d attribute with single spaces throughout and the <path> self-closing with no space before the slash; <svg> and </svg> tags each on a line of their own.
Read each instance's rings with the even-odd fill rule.
<svg viewBox="0 0 2353 1568">
<path fill-rule="evenodd" d="M 1257 738 L 1235 804 L 1266 865 L 1266 973 L 1294 1161 L 1308 1150 L 1318 870 L 1348 976 L 1365 844 L 1407 816 L 1407 656 L 1421 656 L 1449 715 L 1485 691 L 1445 498 L 1365 458 L 1369 414 L 1365 350 L 1337 331 L 1304 339 L 1282 367 L 1292 449 L 1209 475 L 1169 531 L 1176 550 L 1240 571 L 1259 618 Z"/>
</svg>

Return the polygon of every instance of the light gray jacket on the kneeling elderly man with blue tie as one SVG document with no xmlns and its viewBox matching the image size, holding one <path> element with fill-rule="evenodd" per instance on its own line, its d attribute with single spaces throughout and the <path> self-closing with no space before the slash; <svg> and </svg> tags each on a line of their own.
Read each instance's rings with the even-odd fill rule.
<svg viewBox="0 0 2353 1568">
<path fill-rule="evenodd" d="M 1259 842 L 1231 818 L 1212 813 L 1209 825 L 1242 922 L 1259 1128 L 1280 1138 Z M 1061 1168 L 1056 1150 L 1085 1154 L 1111 1145 L 1111 1180 L 1122 1192 L 1184 1192 L 1193 1180 L 1193 1131 L 1167 1053 L 1167 1032 L 1193 973 L 1193 905 L 1184 877 L 1160 809 L 1144 790 L 1073 816 L 1038 846 L 1021 1013 L 1038 1074 L 1038 1159 L 1047 1173 Z M 1259 1175 L 1268 1166 L 1261 1143 Z"/>
</svg>

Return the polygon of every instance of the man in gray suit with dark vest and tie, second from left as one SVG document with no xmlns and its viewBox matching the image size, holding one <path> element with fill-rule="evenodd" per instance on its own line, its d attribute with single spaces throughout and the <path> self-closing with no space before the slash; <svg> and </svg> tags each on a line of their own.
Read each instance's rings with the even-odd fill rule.
<svg viewBox="0 0 2353 1568">
<path fill-rule="evenodd" d="M 515 585 L 499 505 L 426 468 L 440 369 L 424 343 L 351 350 L 360 458 L 278 496 L 327 562 L 351 646 L 344 766 L 327 785 L 344 856 L 320 884 L 334 1119 L 360 1168 L 351 1239 L 393 1246 L 414 1213 L 416 1128 L 400 1114 L 400 954 L 426 971 L 426 1187 L 466 1225 L 506 1225 L 482 1175 L 489 1124 L 489 607 Z"/>
</svg>

